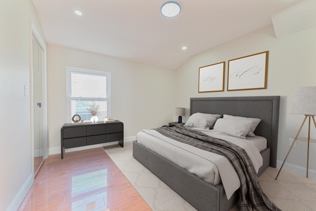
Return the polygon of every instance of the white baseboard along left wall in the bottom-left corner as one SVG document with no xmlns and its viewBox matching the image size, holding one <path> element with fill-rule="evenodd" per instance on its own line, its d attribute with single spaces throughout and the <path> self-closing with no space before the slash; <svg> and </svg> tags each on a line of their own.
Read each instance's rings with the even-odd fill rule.
<svg viewBox="0 0 316 211">
<path fill-rule="evenodd" d="M 6 211 L 17 211 L 34 182 L 34 174 L 30 174 Z"/>
</svg>

